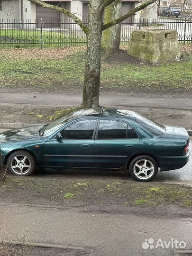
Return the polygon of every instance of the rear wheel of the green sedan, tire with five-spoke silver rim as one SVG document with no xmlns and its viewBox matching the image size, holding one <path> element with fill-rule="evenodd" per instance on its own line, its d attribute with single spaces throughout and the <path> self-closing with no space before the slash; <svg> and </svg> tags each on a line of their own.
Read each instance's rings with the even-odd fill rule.
<svg viewBox="0 0 192 256">
<path fill-rule="evenodd" d="M 138 155 L 131 161 L 129 172 L 136 181 L 148 182 L 155 178 L 158 165 L 150 155 Z"/>
</svg>

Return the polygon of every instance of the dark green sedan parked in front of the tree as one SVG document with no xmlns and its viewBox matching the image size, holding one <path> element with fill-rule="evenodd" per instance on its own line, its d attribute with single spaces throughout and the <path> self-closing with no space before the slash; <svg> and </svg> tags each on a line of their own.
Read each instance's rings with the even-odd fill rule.
<svg viewBox="0 0 192 256">
<path fill-rule="evenodd" d="M 189 161 L 184 128 L 156 124 L 134 111 L 76 110 L 43 127 L 0 134 L 3 165 L 13 175 L 36 167 L 113 169 L 150 181 L 158 171 L 182 168 Z"/>
</svg>

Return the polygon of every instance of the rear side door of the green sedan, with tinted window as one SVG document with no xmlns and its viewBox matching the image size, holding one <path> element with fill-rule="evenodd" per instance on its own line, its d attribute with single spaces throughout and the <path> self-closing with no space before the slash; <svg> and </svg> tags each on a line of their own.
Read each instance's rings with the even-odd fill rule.
<svg viewBox="0 0 192 256">
<path fill-rule="evenodd" d="M 127 122 L 100 119 L 95 137 L 93 166 L 120 168 L 138 148 L 139 138 Z"/>
</svg>

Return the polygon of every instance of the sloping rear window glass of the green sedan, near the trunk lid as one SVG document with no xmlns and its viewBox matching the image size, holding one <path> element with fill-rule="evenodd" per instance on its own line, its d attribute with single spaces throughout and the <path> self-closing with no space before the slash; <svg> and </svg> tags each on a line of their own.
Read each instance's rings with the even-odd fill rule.
<svg viewBox="0 0 192 256">
<path fill-rule="evenodd" d="M 138 114 L 137 114 L 136 121 L 142 127 L 146 128 L 146 130 L 148 130 L 149 132 L 151 132 L 156 136 L 162 135 L 165 132 L 165 127 L 163 125 L 160 125 L 154 121 L 146 119 Z"/>
</svg>

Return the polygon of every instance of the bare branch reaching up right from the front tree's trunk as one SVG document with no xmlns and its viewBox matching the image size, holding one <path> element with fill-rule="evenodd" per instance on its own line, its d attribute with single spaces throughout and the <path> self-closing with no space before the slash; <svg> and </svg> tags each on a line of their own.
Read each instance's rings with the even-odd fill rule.
<svg viewBox="0 0 192 256">
<path fill-rule="evenodd" d="M 109 0 L 109 1 L 110 1 L 110 0 Z M 104 24 L 104 25 L 102 26 L 102 30 L 105 30 L 105 29 L 107 29 L 107 28 L 109 28 L 109 27 L 112 27 L 112 26 L 114 26 L 114 25 L 116 25 L 116 24 L 122 22 L 122 21 L 125 20 L 126 18 L 128 18 L 128 17 L 130 17 L 131 15 L 135 14 L 137 11 L 146 8 L 148 5 L 154 3 L 155 1 L 156 1 L 156 0 L 149 0 L 149 1 L 147 1 L 146 3 L 141 4 L 141 5 L 139 5 L 138 7 L 136 7 L 136 8 L 134 8 L 134 9 L 130 10 L 128 13 L 126 13 L 126 14 L 123 15 L 123 16 L 121 16 L 120 18 L 116 18 L 116 19 L 110 21 L 109 23 Z"/>
</svg>

